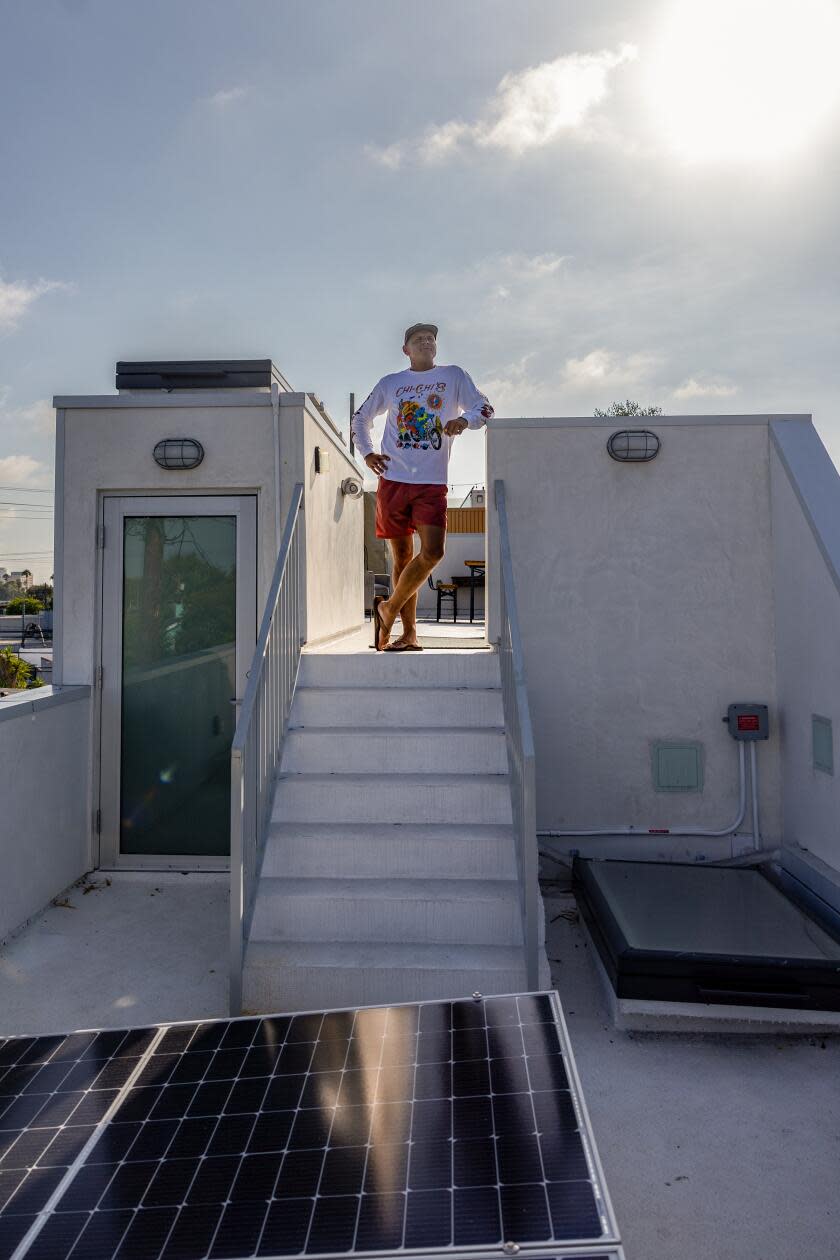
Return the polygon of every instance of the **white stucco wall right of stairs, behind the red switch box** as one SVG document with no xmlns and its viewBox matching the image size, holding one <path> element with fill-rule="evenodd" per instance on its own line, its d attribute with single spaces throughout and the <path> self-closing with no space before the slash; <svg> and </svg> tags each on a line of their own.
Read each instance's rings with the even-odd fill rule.
<svg viewBox="0 0 840 1260">
<path fill-rule="evenodd" d="M 659 456 L 610 459 L 610 433 L 642 425 L 660 435 Z M 729 703 L 754 701 L 771 712 L 771 740 L 758 750 L 762 834 L 778 842 L 768 442 L 767 417 L 491 421 L 489 636 L 499 635 L 492 484 L 502 479 L 539 829 L 725 827 L 738 808 L 738 751 L 722 717 Z M 703 743 L 701 793 L 654 789 L 660 740 Z M 729 849 L 728 840 L 632 843 Z"/>
</svg>

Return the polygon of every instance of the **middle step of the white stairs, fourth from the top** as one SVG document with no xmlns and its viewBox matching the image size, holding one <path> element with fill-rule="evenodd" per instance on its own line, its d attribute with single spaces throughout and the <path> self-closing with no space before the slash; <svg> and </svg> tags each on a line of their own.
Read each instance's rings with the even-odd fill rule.
<svg viewBox="0 0 840 1260">
<path fill-rule="evenodd" d="M 276 823 L 513 822 L 508 775 L 282 774 Z"/>
</svg>

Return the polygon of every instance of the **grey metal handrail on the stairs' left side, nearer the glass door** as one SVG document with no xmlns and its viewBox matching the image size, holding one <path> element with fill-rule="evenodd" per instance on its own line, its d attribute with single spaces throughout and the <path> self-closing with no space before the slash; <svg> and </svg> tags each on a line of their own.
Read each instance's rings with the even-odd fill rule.
<svg viewBox="0 0 840 1260">
<path fill-rule="evenodd" d="M 242 1011 L 242 965 L 266 848 L 275 776 L 301 658 L 304 530 L 298 481 L 268 588 L 248 685 L 230 743 L 230 1014 Z"/>
</svg>

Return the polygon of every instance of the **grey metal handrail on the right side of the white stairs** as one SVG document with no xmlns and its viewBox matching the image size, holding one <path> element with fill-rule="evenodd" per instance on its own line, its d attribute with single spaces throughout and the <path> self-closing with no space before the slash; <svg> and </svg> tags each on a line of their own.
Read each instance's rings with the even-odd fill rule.
<svg viewBox="0 0 840 1260">
<path fill-rule="evenodd" d="M 538 848 L 536 848 L 536 788 L 534 733 L 531 730 L 528 689 L 525 687 L 525 658 L 519 630 L 514 564 L 510 554 L 505 483 L 492 484 L 499 517 L 499 593 L 501 607 L 501 635 L 499 658 L 501 664 L 501 694 L 505 709 L 505 740 L 510 770 L 510 796 L 516 840 L 519 869 L 519 901 L 523 916 L 525 945 L 525 974 L 528 988 L 539 988 L 539 914 Z"/>
</svg>

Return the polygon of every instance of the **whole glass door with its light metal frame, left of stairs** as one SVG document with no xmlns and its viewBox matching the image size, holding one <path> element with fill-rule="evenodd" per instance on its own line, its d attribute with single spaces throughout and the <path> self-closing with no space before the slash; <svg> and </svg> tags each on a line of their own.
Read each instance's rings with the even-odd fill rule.
<svg viewBox="0 0 840 1260">
<path fill-rule="evenodd" d="M 193 501 L 106 505 L 106 862 L 229 854 L 230 741 L 256 638 L 254 510 L 247 498 Z"/>
</svg>

